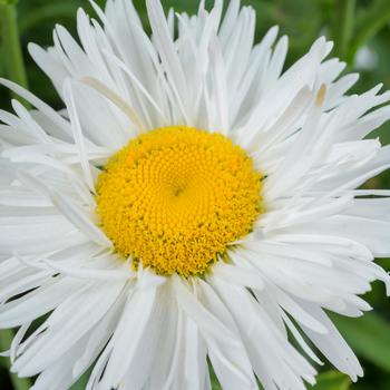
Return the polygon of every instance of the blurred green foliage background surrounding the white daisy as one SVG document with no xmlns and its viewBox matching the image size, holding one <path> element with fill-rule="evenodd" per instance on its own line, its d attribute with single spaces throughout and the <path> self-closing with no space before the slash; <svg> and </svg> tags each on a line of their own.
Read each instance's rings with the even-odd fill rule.
<svg viewBox="0 0 390 390">
<path fill-rule="evenodd" d="M 0 76 L 12 78 L 9 48 L 4 45 L 9 39 L 9 29 L 4 28 L 4 4 L 17 3 L 16 0 L 0 0 Z M 144 0 L 134 0 L 145 27 L 148 29 Z M 226 2 L 226 1 L 225 1 Z M 302 56 L 320 35 L 334 40 L 333 55 L 348 64 L 347 71 L 361 74 L 354 91 L 367 90 L 378 82 L 390 88 L 390 1 L 389 0 L 243 0 L 257 12 L 256 37 L 261 39 L 272 26 L 279 25 L 282 35 L 290 37 L 290 52 L 286 66 Z M 104 6 L 104 0 L 97 3 Z M 168 9 L 196 12 L 197 0 L 163 0 Z M 209 3 L 209 2 L 208 2 Z M 52 45 L 52 29 L 56 23 L 66 26 L 76 35 L 76 10 L 84 7 L 94 14 L 87 0 L 19 0 L 14 11 L 18 13 L 18 27 L 22 53 L 26 61 L 27 78 L 30 89 L 56 108 L 61 101 L 49 80 L 29 58 L 26 47 L 30 41 L 43 47 Z M 14 77 L 17 78 L 18 75 Z M 20 77 L 20 75 L 19 75 Z M 21 76 L 22 77 L 22 76 Z M 10 95 L 0 88 L 0 108 L 10 109 Z M 383 144 L 390 143 L 390 126 L 384 125 L 373 136 L 380 136 Z M 370 181 L 369 187 L 390 188 L 390 174 L 386 173 Z M 390 260 L 381 260 L 381 264 L 390 270 Z M 384 298 L 384 289 L 374 283 L 367 300 L 374 308 L 361 319 L 344 319 L 333 315 L 340 331 L 358 353 L 365 376 L 358 383 L 332 368 L 319 368 L 322 373 L 318 378 L 316 390 L 388 390 L 390 389 L 390 302 Z M 0 332 L 0 345 L 7 348 L 10 333 Z M 7 359 L 0 358 L 0 389 L 22 390 L 28 382 L 20 381 L 8 373 Z M 2 368 L 1 368 L 2 367 Z M 87 376 L 82 377 L 72 390 L 85 389 Z M 215 376 L 212 377 L 213 389 L 220 389 Z M 56 390 L 56 389 L 53 389 Z M 238 390 L 238 389 L 237 389 Z"/>
</svg>

